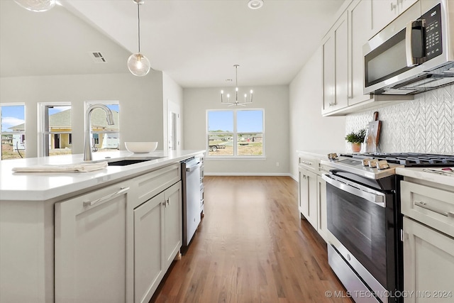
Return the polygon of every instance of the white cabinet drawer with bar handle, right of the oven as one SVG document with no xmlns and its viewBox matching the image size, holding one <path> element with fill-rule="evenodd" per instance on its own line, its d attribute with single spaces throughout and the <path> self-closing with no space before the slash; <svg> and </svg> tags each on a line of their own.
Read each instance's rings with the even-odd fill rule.
<svg viewBox="0 0 454 303">
<path fill-rule="evenodd" d="M 402 214 L 454 237 L 454 192 L 401 182 Z"/>
</svg>

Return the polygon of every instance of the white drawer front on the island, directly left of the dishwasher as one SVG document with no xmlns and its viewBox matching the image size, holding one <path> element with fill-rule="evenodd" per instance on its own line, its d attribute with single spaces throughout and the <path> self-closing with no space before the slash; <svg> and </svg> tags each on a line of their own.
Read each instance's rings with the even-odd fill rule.
<svg viewBox="0 0 454 303">
<path fill-rule="evenodd" d="M 133 181 L 138 187 L 138 203 L 147 201 L 179 180 L 181 180 L 179 163 L 134 178 Z"/>
</svg>

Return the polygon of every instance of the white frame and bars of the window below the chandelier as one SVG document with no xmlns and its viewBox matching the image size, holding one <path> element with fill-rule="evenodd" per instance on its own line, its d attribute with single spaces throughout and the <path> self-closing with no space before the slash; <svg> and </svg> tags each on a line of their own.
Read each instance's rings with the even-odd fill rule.
<svg viewBox="0 0 454 303">
<path fill-rule="evenodd" d="M 209 132 L 209 113 L 212 111 L 233 111 L 233 132 L 219 132 L 216 134 L 228 135 L 233 138 L 233 155 L 209 155 L 209 136 L 213 133 Z M 262 134 L 262 155 L 238 155 L 238 135 L 251 132 L 238 132 L 237 128 L 237 113 L 238 111 L 262 111 L 262 132 L 253 132 Z M 264 160 L 265 155 L 265 109 L 248 108 L 248 109 L 206 109 L 205 113 L 205 150 L 206 158 L 209 159 L 248 159 L 248 160 Z"/>
</svg>

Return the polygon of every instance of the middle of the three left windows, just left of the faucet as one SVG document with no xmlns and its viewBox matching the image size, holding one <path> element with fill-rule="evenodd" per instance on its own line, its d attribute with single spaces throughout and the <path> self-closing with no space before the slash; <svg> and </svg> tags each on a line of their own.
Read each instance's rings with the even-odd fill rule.
<svg viewBox="0 0 454 303">
<path fill-rule="evenodd" d="M 39 155 L 72 153 L 71 104 L 67 102 L 40 104 Z"/>
</svg>

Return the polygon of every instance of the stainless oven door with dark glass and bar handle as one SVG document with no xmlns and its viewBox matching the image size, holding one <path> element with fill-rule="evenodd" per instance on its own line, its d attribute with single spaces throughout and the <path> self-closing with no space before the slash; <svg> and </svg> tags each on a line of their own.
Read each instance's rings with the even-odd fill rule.
<svg viewBox="0 0 454 303">
<path fill-rule="evenodd" d="M 323 179 L 327 182 L 328 231 L 343 246 L 338 252 L 372 290 L 389 290 L 388 273 L 394 275 L 394 269 L 388 270 L 394 267 L 392 197 L 337 175 L 323 175 Z"/>
</svg>

